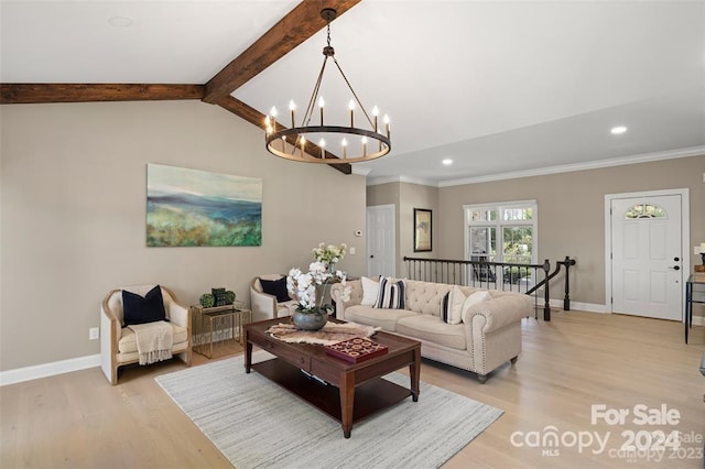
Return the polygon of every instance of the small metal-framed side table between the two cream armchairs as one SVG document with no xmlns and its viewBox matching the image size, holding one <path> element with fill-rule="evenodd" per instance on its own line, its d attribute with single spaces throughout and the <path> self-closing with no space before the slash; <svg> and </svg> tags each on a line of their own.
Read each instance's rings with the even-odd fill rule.
<svg viewBox="0 0 705 469">
<path fill-rule="evenodd" d="M 228 342 L 237 340 L 243 345 L 243 326 L 252 321 L 252 312 L 242 303 L 212 308 L 198 305 L 192 306 L 191 310 L 195 352 L 210 359 Z"/>
</svg>

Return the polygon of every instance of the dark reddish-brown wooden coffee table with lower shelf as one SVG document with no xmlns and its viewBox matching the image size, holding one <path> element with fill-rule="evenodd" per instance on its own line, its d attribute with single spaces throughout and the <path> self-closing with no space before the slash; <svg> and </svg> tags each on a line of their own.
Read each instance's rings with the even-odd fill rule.
<svg viewBox="0 0 705 469">
<path fill-rule="evenodd" d="M 323 346 L 286 343 L 268 335 L 267 329 L 279 323 L 281 319 L 245 325 L 246 372 L 256 370 L 340 422 L 346 438 L 350 437 L 354 423 L 410 395 L 414 402 L 419 401 L 421 342 L 379 331 L 372 340 L 386 345 L 388 353 L 350 363 L 329 356 Z M 252 363 L 252 346 L 276 358 Z M 409 367 L 411 389 L 381 378 L 403 367 Z"/>
</svg>

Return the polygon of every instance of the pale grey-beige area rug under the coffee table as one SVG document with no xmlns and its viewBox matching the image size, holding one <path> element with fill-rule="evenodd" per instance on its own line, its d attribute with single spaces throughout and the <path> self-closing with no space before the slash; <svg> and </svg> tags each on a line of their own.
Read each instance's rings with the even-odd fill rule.
<svg viewBox="0 0 705 469">
<path fill-rule="evenodd" d="M 270 359 L 258 351 L 253 361 Z M 409 385 L 409 377 L 386 379 Z M 423 371 L 422 371 L 423 379 Z M 156 382 L 238 469 L 437 468 L 502 414 L 421 382 L 411 397 L 352 427 L 252 371 L 242 356 L 158 377 Z"/>
</svg>

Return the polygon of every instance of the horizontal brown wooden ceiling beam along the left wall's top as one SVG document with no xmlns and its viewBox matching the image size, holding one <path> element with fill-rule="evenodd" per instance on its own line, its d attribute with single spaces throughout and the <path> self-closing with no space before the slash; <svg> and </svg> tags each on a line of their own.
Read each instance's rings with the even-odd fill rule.
<svg viewBox="0 0 705 469">
<path fill-rule="evenodd" d="M 203 85 L 0 84 L 0 103 L 203 99 Z"/>
</svg>

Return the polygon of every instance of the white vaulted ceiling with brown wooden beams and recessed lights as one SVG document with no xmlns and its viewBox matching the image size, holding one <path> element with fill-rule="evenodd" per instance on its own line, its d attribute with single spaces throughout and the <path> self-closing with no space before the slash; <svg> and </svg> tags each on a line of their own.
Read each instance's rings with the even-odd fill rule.
<svg viewBox="0 0 705 469">
<path fill-rule="evenodd" d="M 705 153 L 703 1 L 1 0 L 0 99 L 202 99 L 260 126 L 305 107 L 330 6 L 338 62 L 392 119 L 390 155 L 352 168 L 372 183 Z"/>
</svg>

